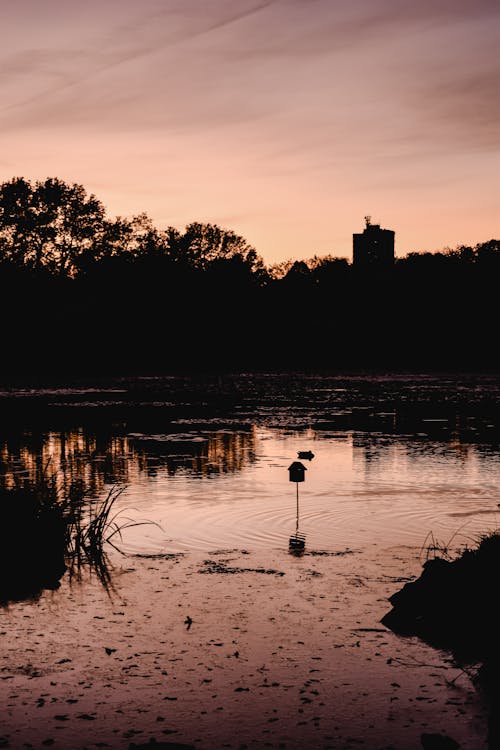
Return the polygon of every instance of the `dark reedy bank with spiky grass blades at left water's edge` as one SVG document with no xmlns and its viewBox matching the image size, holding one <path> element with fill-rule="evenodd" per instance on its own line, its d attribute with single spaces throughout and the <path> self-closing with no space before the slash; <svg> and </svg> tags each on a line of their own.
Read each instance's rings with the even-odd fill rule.
<svg viewBox="0 0 500 750">
<path fill-rule="evenodd" d="M 114 512 L 123 490 L 111 487 L 102 499 L 91 498 L 81 481 L 67 491 L 46 471 L 0 492 L 0 606 L 36 600 L 57 589 L 61 579 L 79 581 L 95 574 L 111 587 L 107 546 L 120 552 L 121 532 L 139 525 Z"/>
</svg>

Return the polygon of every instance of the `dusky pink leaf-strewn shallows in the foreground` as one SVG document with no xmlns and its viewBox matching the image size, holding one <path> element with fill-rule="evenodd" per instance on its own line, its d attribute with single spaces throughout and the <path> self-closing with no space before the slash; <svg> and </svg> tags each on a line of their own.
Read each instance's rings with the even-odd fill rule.
<svg viewBox="0 0 500 750">
<path fill-rule="evenodd" d="M 449 654 L 380 625 L 418 552 L 337 552 L 117 557 L 110 596 L 63 579 L 1 610 L 2 746 L 485 748 Z"/>
</svg>

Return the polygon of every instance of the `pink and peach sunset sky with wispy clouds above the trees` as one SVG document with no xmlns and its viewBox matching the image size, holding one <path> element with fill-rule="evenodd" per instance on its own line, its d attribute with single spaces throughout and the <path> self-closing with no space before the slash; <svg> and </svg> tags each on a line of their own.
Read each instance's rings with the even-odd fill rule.
<svg viewBox="0 0 500 750">
<path fill-rule="evenodd" d="M 1 0 L 0 179 L 267 263 L 500 236 L 498 0 Z"/>
</svg>

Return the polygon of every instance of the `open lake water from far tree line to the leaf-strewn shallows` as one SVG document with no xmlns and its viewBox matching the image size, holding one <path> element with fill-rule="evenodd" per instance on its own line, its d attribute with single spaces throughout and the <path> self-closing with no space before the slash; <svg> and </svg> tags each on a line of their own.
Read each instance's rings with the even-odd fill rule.
<svg viewBox="0 0 500 750">
<path fill-rule="evenodd" d="M 286 546 L 299 451 L 314 454 L 298 487 L 313 549 L 431 534 L 457 546 L 498 526 L 494 378 L 243 376 L 206 391 L 151 379 L 139 398 L 127 386 L 4 392 L 28 424 L 10 413 L 3 481 L 45 467 L 90 496 L 119 485 L 117 509 L 161 526 L 127 533 L 136 552 Z"/>
</svg>

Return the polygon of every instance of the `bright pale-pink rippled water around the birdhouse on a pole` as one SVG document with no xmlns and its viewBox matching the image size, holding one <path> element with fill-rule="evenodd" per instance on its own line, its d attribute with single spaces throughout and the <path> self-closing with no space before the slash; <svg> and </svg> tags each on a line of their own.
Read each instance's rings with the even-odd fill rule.
<svg viewBox="0 0 500 750">
<path fill-rule="evenodd" d="M 474 540 L 499 522 L 500 465 L 495 453 L 437 442 L 388 440 L 255 428 L 208 438 L 208 466 L 137 472 L 121 501 L 157 521 L 129 540 L 149 550 L 283 547 L 295 528 L 296 485 L 288 467 L 299 450 L 299 528 L 311 549 L 367 542 Z M 155 462 L 156 463 L 156 462 Z M 174 464 L 175 466 L 175 464 Z M 224 471 L 226 469 L 226 471 Z"/>
</svg>

